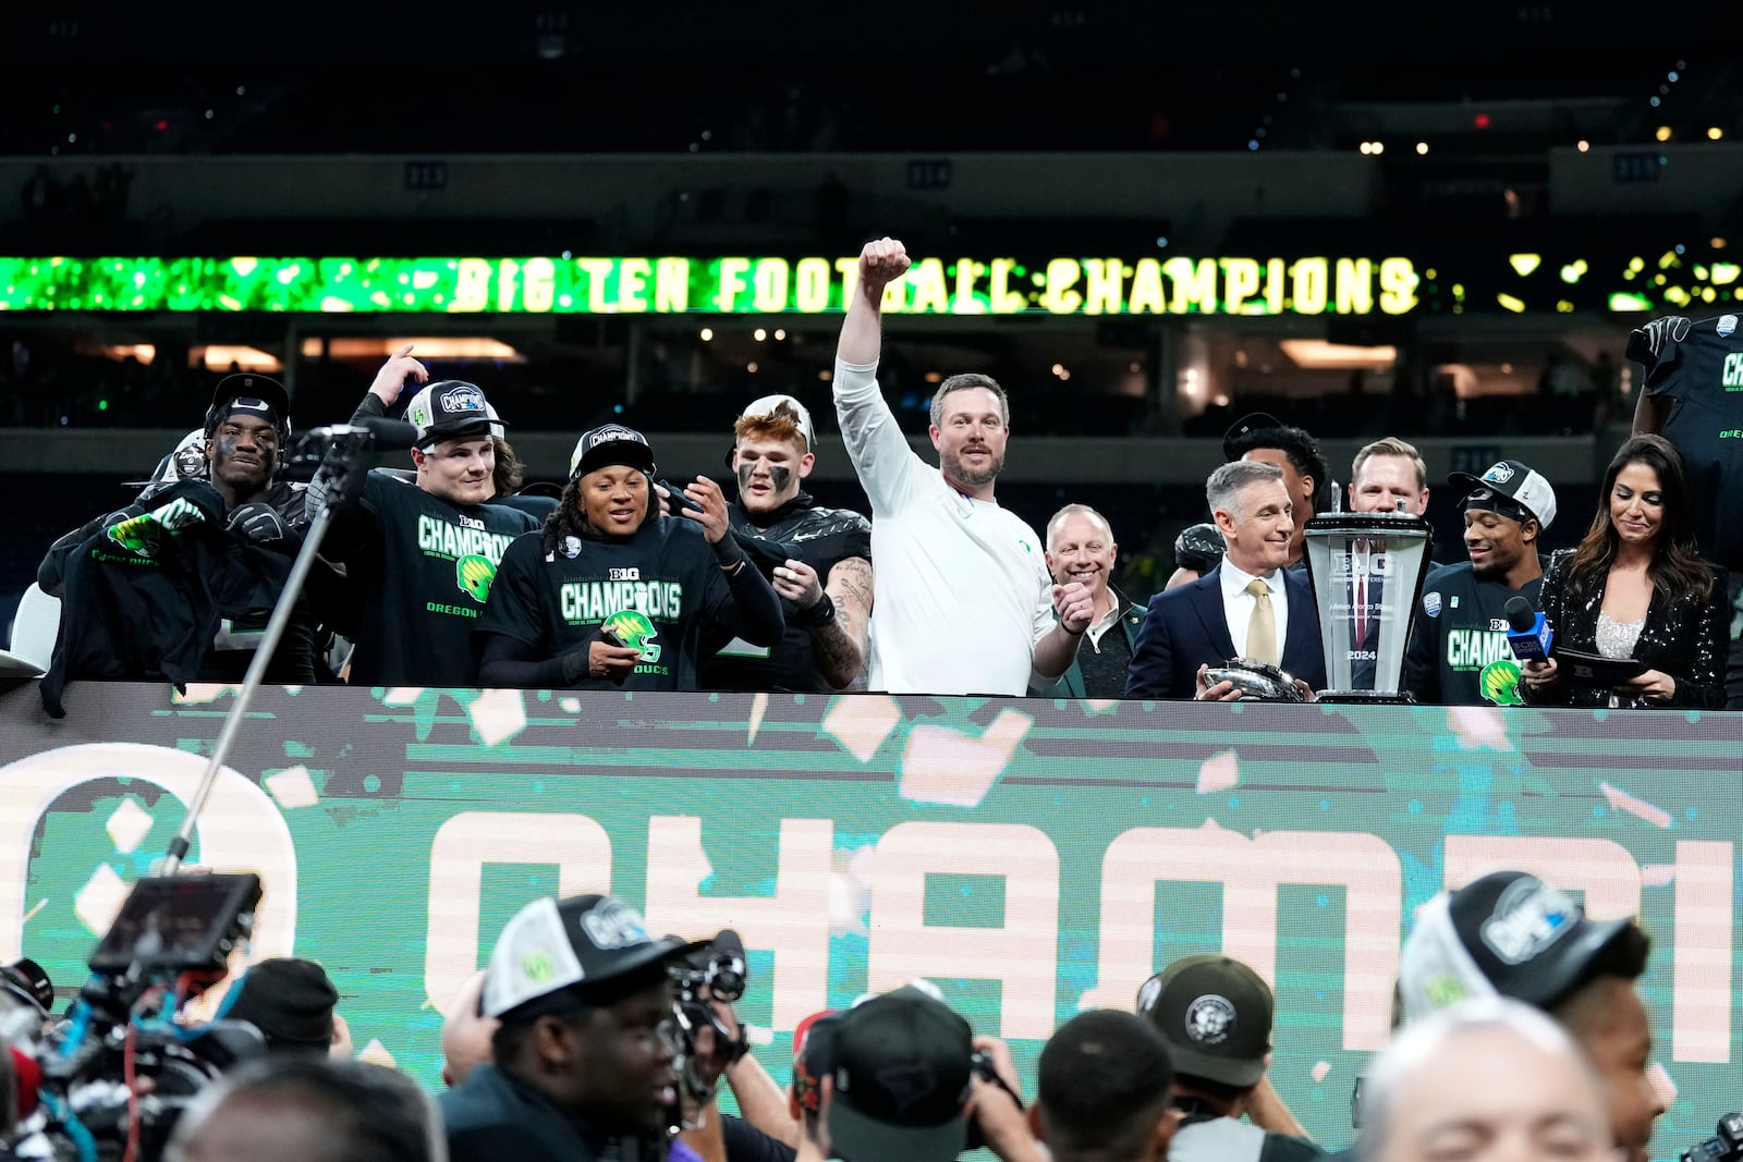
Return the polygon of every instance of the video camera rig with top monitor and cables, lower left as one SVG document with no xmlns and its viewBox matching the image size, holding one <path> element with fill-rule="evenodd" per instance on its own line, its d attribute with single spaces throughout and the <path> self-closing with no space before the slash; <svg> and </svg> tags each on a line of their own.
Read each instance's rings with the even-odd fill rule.
<svg viewBox="0 0 1743 1162">
<path fill-rule="evenodd" d="M 200 1089 L 265 1052 L 260 1031 L 242 1021 L 174 1021 L 199 990 L 225 977 L 258 902 L 253 875 L 148 876 L 134 885 L 87 960 L 92 976 L 78 1000 L 37 1045 L 40 1105 L 7 1141 L 17 1157 L 157 1159 Z M 3 979 L 12 991 L 10 970 Z"/>
</svg>

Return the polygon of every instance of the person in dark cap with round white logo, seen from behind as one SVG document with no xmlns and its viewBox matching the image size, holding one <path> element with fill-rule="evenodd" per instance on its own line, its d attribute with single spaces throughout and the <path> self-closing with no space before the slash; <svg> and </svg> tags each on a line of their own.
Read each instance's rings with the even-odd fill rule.
<svg viewBox="0 0 1743 1162">
<path fill-rule="evenodd" d="M 1325 1157 L 1265 1077 L 1272 1005 L 1257 972 L 1218 955 L 1183 956 L 1138 990 L 1138 1014 L 1168 1042 L 1175 1108 L 1185 1115 L 1168 1146 L 1171 1162 Z"/>
</svg>

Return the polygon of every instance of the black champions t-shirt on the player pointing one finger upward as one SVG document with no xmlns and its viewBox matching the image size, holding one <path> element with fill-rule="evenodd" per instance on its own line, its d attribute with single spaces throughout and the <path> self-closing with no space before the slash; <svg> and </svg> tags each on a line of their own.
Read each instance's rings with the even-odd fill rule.
<svg viewBox="0 0 1743 1162">
<path fill-rule="evenodd" d="M 502 554 L 537 521 L 500 505 L 450 503 L 383 472 L 370 472 L 361 507 L 375 517 L 376 544 L 347 561 L 363 598 L 350 683 L 472 685 L 472 627 Z"/>
</svg>

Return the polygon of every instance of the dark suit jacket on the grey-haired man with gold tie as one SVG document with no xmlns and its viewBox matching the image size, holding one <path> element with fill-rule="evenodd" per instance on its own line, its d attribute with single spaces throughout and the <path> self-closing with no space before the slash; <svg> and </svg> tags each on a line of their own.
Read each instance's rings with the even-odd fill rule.
<svg viewBox="0 0 1743 1162">
<path fill-rule="evenodd" d="M 1325 686 L 1325 652 L 1319 648 L 1319 613 L 1306 577 L 1283 570 L 1290 601 L 1290 629 L 1283 641 L 1283 669 L 1314 690 Z M 1197 693 L 1197 667 L 1234 657 L 1234 638 L 1222 610 L 1222 566 L 1189 585 L 1150 598 L 1138 645 L 1126 672 L 1128 699 L 1190 699 Z"/>
</svg>

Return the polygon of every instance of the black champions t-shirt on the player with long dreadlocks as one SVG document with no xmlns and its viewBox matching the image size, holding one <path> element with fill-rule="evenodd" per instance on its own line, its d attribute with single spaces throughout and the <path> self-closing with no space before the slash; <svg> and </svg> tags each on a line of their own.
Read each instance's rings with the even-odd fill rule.
<svg viewBox="0 0 1743 1162">
<path fill-rule="evenodd" d="M 610 627 L 641 650 L 641 662 L 621 686 L 582 676 L 572 688 L 695 690 L 704 629 L 730 634 L 734 618 L 732 589 L 702 530 L 654 517 L 622 540 L 570 537 L 551 554 L 542 533 L 518 538 L 478 632 L 512 638 L 544 660 L 586 650 Z"/>
</svg>

